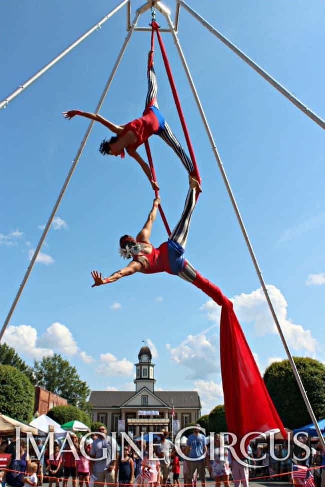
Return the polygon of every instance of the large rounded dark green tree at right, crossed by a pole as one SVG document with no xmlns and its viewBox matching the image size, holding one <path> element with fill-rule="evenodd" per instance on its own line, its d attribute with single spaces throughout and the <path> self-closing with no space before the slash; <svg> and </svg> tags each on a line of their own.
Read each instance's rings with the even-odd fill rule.
<svg viewBox="0 0 325 487">
<path fill-rule="evenodd" d="M 325 417 L 325 366 L 308 357 L 293 357 L 316 418 Z M 264 381 L 284 426 L 298 428 L 310 423 L 310 416 L 288 360 L 273 362 Z"/>
</svg>

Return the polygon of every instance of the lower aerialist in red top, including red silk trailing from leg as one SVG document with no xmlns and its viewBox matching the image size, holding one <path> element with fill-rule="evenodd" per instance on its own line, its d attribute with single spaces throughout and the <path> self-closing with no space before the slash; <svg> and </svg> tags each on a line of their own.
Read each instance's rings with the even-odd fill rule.
<svg viewBox="0 0 325 487">
<path fill-rule="evenodd" d="M 280 428 L 284 438 L 286 433 L 234 313 L 232 302 L 222 294 L 220 288 L 202 277 L 184 257 L 198 189 L 198 182 L 189 176 L 184 211 L 169 239 L 158 248 L 149 242 L 160 203 L 159 197 L 154 198 L 149 216 L 137 237 L 134 239 L 130 235 L 124 235 L 120 238 L 120 254 L 125 259 L 132 259 L 131 262 L 109 277 L 102 277 L 98 271 L 92 271 L 92 287 L 116 282 L 136 272 L 168 272 L 194 284 L 221 306 L 220 358 L 227 431 L 234 433 L 239 442 L 243 440 L 242 449 L 238 442 L 234 447 L 238 458 L 242 458 L 246 456 L 245 449 L 249 440 L 257 436 L 253 434 L 244 438 L 248 433 L 265 432 L 273 428 Z"/>
</svg>

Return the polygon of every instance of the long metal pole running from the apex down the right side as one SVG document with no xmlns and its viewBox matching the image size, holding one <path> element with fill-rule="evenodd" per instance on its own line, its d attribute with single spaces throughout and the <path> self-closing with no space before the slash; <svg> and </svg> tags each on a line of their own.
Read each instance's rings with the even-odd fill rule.
<svg viewBox="0 0 325 487">
<path fill-rule="evenodd" d="M 216 147 L 216 144 L 215 144 L 215 141 L 213 139 L 213 135 L 212 135 L 212 132 L 211 132 L 211 129 L 209 127 L 209 124 L 208 124 L 208 121 L 206 119 L 206 116 L 205 116 L 205 113 L 204 113 L 204 110 L 203 110 L 203 107 L 202 107 L 202 104 L 201 104 L 201 101 L 200 101 L 200 98 L 198 96 L 198 93 L 196 91 L 196 87 L 195 87 L 195 84 L 194 84 L 194 81 L 192 79 L 192 76 L 190 74 L 190 71 L 189 71 L 189 68 L 188 68 L 188 65 L 187 65 L 187 62 L 186 62 L 186 59 L 185 59 L 185 56 L 183 54 L 183 51 L 181 49 L 181 46 L 180 46 L 180 43 L 179 43 L 179 39 L 178 39 L 178 36 L 173 28 L 173 24 L 172 24 L 172 21 L 170 19 L 170 16 L 165 14 L 165 17 L 168 21 L 168 24 L 169 24 L 169 27 L 170 27 L 170 30 L 171 30 L 171 33 L 172 33 L 172 36 L 173 36 L 173 39 L 175 41 L 175 44 L 176 44 L 176 47 L 177 47 L 177 51 L 178 51 L 178 54 L 179 54 L 179 57 L 180 57 L 180 60 L 182 62 L 182 65 L 183 65 L 183 68 L 185 70 L 185 73 L 186 73 L 186 76 L 187 76 L 187 79 L 189 81 L 189 84 L 190 84 L 190 87 L 191 87 L 191 90 L 192 90 L 192 93 L 194 95 L 194 99 L 196 101 L 196 104 L 197 104 L 197 107 L 198 107 L 198 110 L 200 112 L 200 115 L 201 115 L 201 118 L 202 118 L 202 121 L 203 121 L 203 124 L 204 124 L 204 127 L 205 127 L 205 130 L 206 130 L 206 133 L 207 133 L 207 136 L 210 140 L 210 144 L 211 144 L 211 147 L 212 147 L 212 150 L 213 150 L 213 153 L 214 153 L 214 157 L 217 161 L 217 164 L 219 166 L 219 169 L 220 169 L 220 172 L 221 172 L 221 175 L 222 175 L 222 178 L 223 178 L 223 181 L 224 181 L 224 184 L 226 186 L 226 189 L 228 191 L 228 194 L 229 194 L 229 197 L 230 197 L 230 200 L 231 200 L 231 203 L 232 203 L 232 206 L 233 206 L 233 209 L 235 211 L 235 214 L 237 216 L 237 219 L 238 219 L 238 222 L 239 222 L 239 225 L 240 225 L 240 228 L 241 228 L 241 231 L 242 231 L 242 234 L 244 236 L 244 239 L 246 241 L 246 244 L 247 244 L 247 247 L 248 247 L 248 250 L 249 250 L 249 253 L 250 253 L 250 256 L 251 256 L 251 259 L 253 261 L 253 264 L 254 264 L 254 267 L 255 267 L 255 270 L 256 270 L 256 273 L 257 273 L 257 276 L 258 276 L 258 279 L 260 281 L 260 284 L 261 284 L 261 287 L 264 291 L 264 294 L 265 294 L 265 297 L 266 297 L 266 301 L 268 303 L 268 306 L 269 306 L 269 309 L 271 311 L 271 314 L 273 316 L 273 319 L 274 319 L 274 322 L 275 322 L 275 325 L 277 327 L 277 330 L 279 332 L 279 335 L 281 337 L 281 340 L 282 340 L 282 343 L 283 343 L 283 346 L 285 348 L 285 351 L 287 353 L 287 356 L 288 356 L 288 359 L 290 361 L 290 364 L 291 364 L 291 367 L 292 367 L 292 370 L 293 370 L 293 374 L 295 376 L 295 379 L 298 383 L 298 386 L 299 386 L 299 389 L 300 389 L 300 392 L 301 392 L 301 395 L 303 397 L 303 400 L 305 402 L 305 405 L 307 407 L 307 410 L 310 414 L 310 417 L 312 419 L 312 422 L 315 426 L 315 429 L 319 435 L 319 440 L 321 441 L 322 443 L 322 446 L 323 448 L 325 449 L 325 441 L 324 441 L 324 438 L 322 436 L 322 433 L 321 433 L 321 430 L 319 428 L 319 425 L 317 423 L 317 420 L 316 420 L 316 417 L 315 417 L 315 414 L 313 412 L 313 409 L 311 407 L 311 404 L 309 402 L 309 399 L 308 399 L 308 396 L 306 394 L 306 391 L 303 387 L 303 384 L 302 384 L 302 381 L 301 381 L 301 377 L 299 375 L 299 372 L 298 372 L 298 369 L 296 368 L 296 365 L 295 365 L 295 362 L 293 360 L 293 357 L 291 355 L 291 352 L 290 352 L 290 349 L 288 347 L 288 344 L 286 342 L 286 339 L 284 337 L 284 334 L 283 334 L 283 331 L 282 331 L 282 328 L 281 328 L 281 325 L 280 325 L 280 322 L 277 318 L 277 315 L 276 315 L 276 312 L 275 312 L 275 309 L 274 309 L 274 306 L 273 306 L 273 303 L 271 301 L 271 298 L 268 294 L 268 290 L 267 290 L 267 287 L 266 287 L 266 284 L 265 284 L 265 281 L 263 279 L 263 276 L 262 276 L 262 273 L 261 273 L 261 270 L 260 270 L 260 267 L 258 265 L 258 262 L 257 262 L 257 258 L 255 256 L 255 253 L 254 253 L 254 250 L 252 248 L 252 245 L 251 245 L 251 242 L 249 240 L 249 237 L 248 237 L 248 233 L 247 233 L 247 230 L 245 228 L 245 225 L 244 225 L 244 222 L 243 222 L 243 219 L 240 215 L 240 212 L 239 212 L 239 208 L 238 208 L 238 205 L 237 205 L 237 202 L 235 200 L 235 197 L 234 197 L 234 194 L 232 192 L 232 189 L 231 189 L 231 186 L 230 186 L 230 183 L 228 181 L 228 178 L 227 178 L 227 175 L 225 173 L 225 170 L 224 170 L 224 166 L 223 166 L 223 163 L 221 161 L 221 158 L 219 156 L 219 153 L 218 153 L 218 150 L 217 150 L 217 147 Z"/>
</svg>

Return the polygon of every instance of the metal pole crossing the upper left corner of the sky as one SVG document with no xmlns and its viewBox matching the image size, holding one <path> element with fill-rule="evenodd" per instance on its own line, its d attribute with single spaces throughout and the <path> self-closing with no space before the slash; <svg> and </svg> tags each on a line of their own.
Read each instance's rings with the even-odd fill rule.
<svg viewBox="0 0 325 487">
<path fill-rule="evenodd" d="M 79 37 L 73 44 L 69 45 L 64 51 L 58 54 L 54 59 L 52 59 L 48 64 L 46 64 L 42 69 L 37 71 L 36 74 L 27 79 L 23 84 L 18 86 L 18 88 L 9 94 L 4 100 L 0 101 L 0 110 L 8 106 L 10 101 L 12 101 L 16 96 L 20 95 L 26 88 L 28 88 L 32 83 L 34 83 L 40 76 L 45 74 L 54 64 L 60 61 L 66 54 L 71 52 L 75 47 L 77 47 L 83 40 L 85 40 L 89 35 L 91 35 L 95 30 L 100 29 L 101 25 L 105 23 L 110 17 L 112 17 L 118 10 L 120 10 L 124 5 L 126 5 L 128 0 L 123 0 L 119 3 L 113 10 L 111 10 L 107 15 L 105 15 L 99 22 L 97 22 L 93 27 L 91 27 L 87 32 L 85 32 L 81 37 Z"/>
</svg>

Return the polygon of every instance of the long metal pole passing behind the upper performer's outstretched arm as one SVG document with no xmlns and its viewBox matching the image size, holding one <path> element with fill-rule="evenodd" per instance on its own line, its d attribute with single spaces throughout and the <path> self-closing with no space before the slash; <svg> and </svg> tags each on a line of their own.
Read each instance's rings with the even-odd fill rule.
<svg viewBox="0 0 325 487">
<path fill-rule="evenodd" d="M 101 108 L 101 105 L 102 105 L 102 103 L 103 103 L 103 101 L 104 101 L 104 99 L 105 99 L 105 97 L 106 97 L 106 94 L 107 94 L 107 92 L 108 92 L 108 89 L 109 89 L 109 87 L 110 87 L 110 85 L 111 85 L 111 82 L 112 82 L 112 80 L 113 80 L 114 76 L 115 76 L 115 73 L 116 73 L 116 71 L 117 71 L 117 68 L 118 68 L 118 66 L 119 66 L 119 63 L 120 63 L 120 61 L 121 61 L 121 59 L 122 59 L 122 56 L 123 56 L 123 54 L 124 54 L 124 52 L 125 52 L 125 49 L 126 49 L 126 47 L 127 47 L 127 44 L 128 44 L 128 42 L 129 42 L 129 40 L 130 40 L 130 38 L 131 38 L 131 35 L 132 35 L 133 30 L 134 30 L 134 28 L 135 28 L 135 26 L 136 26 L 136 23 L 137 23 L 137 20 L 138 20 L 139 16 L 140 16 L 140 13 L 139 13 L 139 12 L 136 12 L 136 15 L 135 15 L 134 21 L 133 21 L 133 23 L 132 23 L 132 25 L 131 25 L 130 30 L 129 30 L 129 31 L 128 31 L 128 33 L 127 33 L 127 36 L 126 36 L 126 38 L 125 38 L 125 40 L 124 40 L 124 43 L 123 43 L 123 46 L 122 46 L 122 48 L 121 48 L 121 50 L 120 50 L 120 52 L 119 52 L 119 54 L 118 54 L 118 57 L 117 57 L 116 62 L 115 62 L 115 64 L 114 64 L 114 67 L 113 67 L 113 69 L 112 69 L 112 71 L 111 71 L 111 73 L 110 73 L 110 76 L 109 76 L 109 79 L 108 79 L 108 81 L 107 81 L 107 84 L 106 84 L 106 86 L 105 86 L 105 88 L 104 88 L 104 91 L 102 92 L 102 95 L 101 95 L 101 97 L 100 97 L 100 99 L 99 99 L 99 102 L 98 102 L 98 105 L 97 105 L 97 108 L 96 108 L 95 113 L 98 113 L 98 112 L 99 112 L 99 110 L 100 110 L 100 108 Z M 35 250 L 35 253 L 34 253 L 34 255 L 32 256 L 32 259 L 31 259 L 30 264 L 29 264 L 29 266 L 28 266 L 28 268 L 27 268 L 27 271 L 26 271 L 26 273 L 25 273 L 25 275 L 24 275 L 24 278 L 23 278 L 23 280 L 22 280 L 22 283 L 20 284 L 20 287 L 19 287 L 19 289 L 18 289 L 18 292 L 17 292 L 17 294 L 16 294 L 16 296 L 15 296 L 15 298 L 14 298 L 14 301 L 13 301 L 13 303 L 12 303 L 12 306 L 11 306 L 11 308 L 10 308 L 10 310 L 9 310 L 8 316 L 6 317 L 5 322 L 4 322 L 3 326 L 2 326 L 2 329 L 1 329 L 1 332 L 0 332 L 0 342 L 1 342 L 1 340 L 2 340 L 2 337 L 3 337 L 3 334 L 4 334 L 5 330 L 6 330 L 6 327 L 7 327 L 8 323 L 9 323 L 9 321 L 10 321 L 11 315 L 12 315 L 12 313 L 13 313 L 13 311 L 14 311 L 15 307 L 16 307 L 16 304 L 17 304 L 17 302 L 18 302 L 18 300 L 19 300 L 19 298 L 20 298 L 20 296 L 21 296 L 21 293 L 22 293 L 23 288 L 24 288 L 24 286 L 25 286 L 25 284 L 26 284 L 26 282 L 27 282 L 27 279 L 28 279 L 28 277 L 29 277 L 29 274 L 30 274 L 30 272 L 31 272 L 31 270 L 32 270 L 32 268 L 33 268 L 33 265 L 34 265 L 34 263 L 36 262 L 36 259 L 37 259 L 37 256 L 38 256 L 38 254 L 39 254 L 40 248 L 41 248 L 41 246 L 42 246 L 42 244 L 43 244 L 43 242 L 44 242 L 44 240 L 45 240 L 45 237 L 46 237 L 46 235 L 47 235 L 47 232 L 48 232 L 48 230 L 49 230 L 49 227 L 51 226 L 51 223 L 52 223 L 52 221 L 53 221 L 53 218 L 54 218 L 54 216 L 55 216 L 55 213 L 56 213 L 56 211 L 57 211 L 57 208 L 59 207 L 59 204 L 61 203 L 61 200 L 62 200 L 62 198 L 63 198 L 64 192 L 65 192 L 65 190 L 66 190 L 66 188 L 67 188 L 67 185 L 68 185 L 68 184 L 69 184 L 69 182 L 70 182 L 70 179 L 71 179 L 72 174 L 73 174 L 73 172 L 74 172 L 74 169 L 75 169 L 75 167 L 76 167 L 76 165 L 77 165 L 77 163 L 78 163 L 78 161 L 79 161 L 79 158 L 80 158 L 80 156 L 81 156 L 81 154 L 82 154 L 82 151 L 83 151 L 83 149 L 84 149 L 84 146 L 86 145 L 86 142 L 87 142 L 87 139 L 88 139 L 89 134 L 90 134 L 90 132 L 91 132 L 91 129 L 92 129 L 93 124 L 94 124 L 94 120 L 91 120 L 91 122 L 89 123 L 88 128 L 87 128 L 87 130 L 86 130 L 86 133 L 85 133 L 85 135 L 84 135 L 84 137 L 83 137 L 83 139 L 82 139 L 81 145 L 80 145 L 80 147 L 79 147 L 79 149 L 78 149 L 78 151 L 77 151 L 77 154 L 76 154 L 76 156 L 75 156 L 75 159 L 73 160 L 73 163 L 72 163 L 72 166 L 71 166 L 71 168 L 70 168 L 70 170 L 69 170 L 69 173 L 68 173 L 68 175 L 67 175 L 67 177 L 66 177 L 66 179 L 65 179 L 65 181 L 64 181 L 64 184 L 63 184 L 63 186 L 62 186 L 62 189 L 61 189 L 61 191 L 60 191 L 60 193 L 59 193 L 59 195 L 58 195 L 58 198 L 57 198 L 57 200 L 56 200 L 56 203 L 55 203 L 55 205 L 54 205 L 54 208 L 53 208 L 53 210 L 52 210 L 52 212 L 51 212 L 51 214 L 50 214 L 50 216 L 49 216 L 49 218 L 48 218 L 48 221 L 47 221 L 47 223 L 46 223 L 46 226 L 45 226 L 45 228 L 44 228 L 44 231 L 43 231 L 43 233 L 42 233 L 42 236 L 40 237 L 40 240 L 39 240 L 39 242 L 38 242 L 38 245 L 37 245 L 37 248 L 36 248 L 36 250 Z"/>
</svg>

